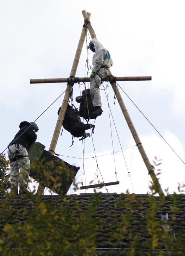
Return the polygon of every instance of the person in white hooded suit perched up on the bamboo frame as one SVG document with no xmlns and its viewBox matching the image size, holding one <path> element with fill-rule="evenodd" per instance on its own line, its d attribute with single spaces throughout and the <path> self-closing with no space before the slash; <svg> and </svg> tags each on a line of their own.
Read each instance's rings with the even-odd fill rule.
<svg viewBox="0 0 185 256">
<path fill-rule="evenodd" d="M 110 68 L 113 65 L 113 61 L 110 57 L 109 51 L 103 47 L 103 45 L 96 39 L 90 40 L 88 49 L 95 54 L 92 57 L 92 73 L 90 75 L 90 95 L 94 110 L 90 113 L 90 118 L 101 115 L 103 110 L 101 108 L 101 96 L 100 85 L 104 78 L 108 78 Z"/>
</svg>

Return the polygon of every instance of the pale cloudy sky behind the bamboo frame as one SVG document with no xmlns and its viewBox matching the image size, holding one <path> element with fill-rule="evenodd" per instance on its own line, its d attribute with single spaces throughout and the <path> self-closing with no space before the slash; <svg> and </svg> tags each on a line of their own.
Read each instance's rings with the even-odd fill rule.
<svg viewBox="0 0 185 256">
<path fill-rule="evenodd" d="M 64 83 L 32 84 L 30 79 L 69 77 L 83 26 L 81 11 L 91 13 L 91 24 L 97 39 L 113 59 L 111 72 L 115 76 L 152 76 L 152 81 L 119 82 L 134 103 L 151 121 L 177 154 L 185 160 L 184 138 L 184 1 L 62 1 L 62 0 L 6 0 L 1 2 L 0 73 L 1 73 L 1 152 L 19 130 L 23 120 L 34 121 L 66 88 Z M 88 37 L 89 43 L 89 37 Z M 86 42 L 76 76 L 84 77 Z M 89 52 L 89 62 L 92 52 Z M 88 84 L 86 85 L 88 87 Z M 101 87 L 102 88 L 102 87 Z M 81 85 L 83 90 L 83 85 Z M 162 189 L 177 191 L 178 182 L 185 181 L 185 165 L 141 115 L 120 89 L 123 101 L 138 132 L 149 160 L 162 159 L 160 183 Z M 80 95 L 74 86 L 74 98 Z M 113 152 L 108 104 L 101 91 L 103 114 L 95 121 L 93 141 L 96 155 Z M 148 172 L 128 129 L 126 121 L 108 88 L 109 104 L 113 113 L 128 170 L 121 152 L 97 157 L 104 182 L 120 185 L 107 187 L 110 193 L 146 194 Z M 37 120 L 37 141 L 49 149 L 58 118 L 57 111 L 63 98 L 53 104 Z M 79 104 L 75 104 L 79 107 Z M 111 120 L 114 151 L 121 150 Z M 94 157 L 92 138 L 85 139 L 85 158 Z M 102 182 L 96 176 L 94 158 L 84 160 L 82 142 L 63 131 L 56 153 L 70 156 L 61 158 L 80 167 L 77 182 Z M 131 147 L 131 148 L 130 148 Z M 128 175 L 130 172 L 130 178 Z M 132 184 L 131 184 L 132 182 Z M 86 191 L 92 192 L 92 189 Z M 102 192 L 106 192 L 104 188 Z M 74 193 L 72 188 L 69 193 Z M 81 191 L 80 193 L 85 193 Z"/>
</svg>

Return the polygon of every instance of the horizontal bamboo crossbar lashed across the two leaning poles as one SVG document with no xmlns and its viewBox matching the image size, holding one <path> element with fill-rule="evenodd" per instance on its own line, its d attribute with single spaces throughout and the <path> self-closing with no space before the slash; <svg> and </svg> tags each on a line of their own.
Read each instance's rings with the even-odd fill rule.
<svg viewBox="0 0 185 256">
<path fill-rule="evenodd" d="M 151 76 L 110 76 L 109 82 L 114 81 L 148 81 L 152 80 Z M 103 79 L 103 81 L 107 81 Z M 78 83 L 90 82 L 90 77 L 69 77 L 69 78 L 45 78 L 45 79 L 30 79 L 30 83 Z"/>
</svg>

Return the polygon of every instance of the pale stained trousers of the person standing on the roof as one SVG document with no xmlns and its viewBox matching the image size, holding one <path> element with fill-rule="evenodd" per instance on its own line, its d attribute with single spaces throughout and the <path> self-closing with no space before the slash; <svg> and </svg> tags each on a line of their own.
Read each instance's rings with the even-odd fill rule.
<svg viewBox="0 0 185 256">
<path fill-rule="evenodd" d="M 27 188 L 28 176 L 30 174 L 30 160 L 28 157 L 19 157 L 28 155 L 27 149 L 20 144 L 12 144 L 8 147 L 8 157 L 10 160 L 10 186 L 18 188 L 24 186 Z M 13 159 L 13 161 L 11 161 Z"/>
</svg>

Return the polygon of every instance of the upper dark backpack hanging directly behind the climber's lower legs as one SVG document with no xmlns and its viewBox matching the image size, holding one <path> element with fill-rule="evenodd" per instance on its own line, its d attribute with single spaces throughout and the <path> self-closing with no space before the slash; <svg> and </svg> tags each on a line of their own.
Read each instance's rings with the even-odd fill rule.
<svg viewBox="0 0 185 256">
<path fill-rule="evenodd" d="M 91 113 L 95 110 L 95 108 L 92 105 L 90 89 L 83 90 L 82 95 L 76 97 L 76 102 L 80 103 L 79 116 L 88 120 Z M 90 117 L 90 119 L 96 119 L 97 116 L 98 115 L 93 116 L 93 118 Z"/>
</svg>

